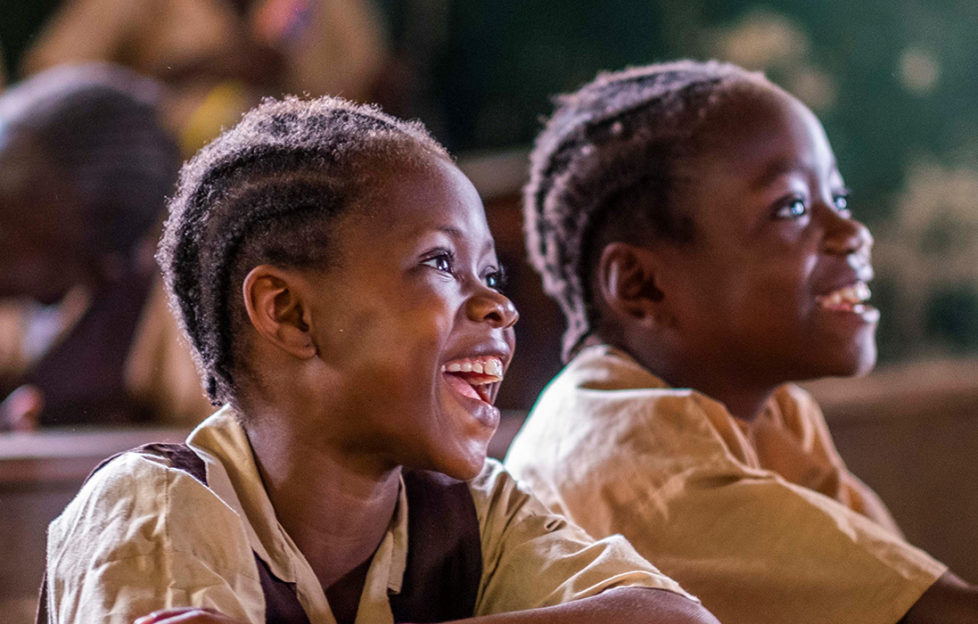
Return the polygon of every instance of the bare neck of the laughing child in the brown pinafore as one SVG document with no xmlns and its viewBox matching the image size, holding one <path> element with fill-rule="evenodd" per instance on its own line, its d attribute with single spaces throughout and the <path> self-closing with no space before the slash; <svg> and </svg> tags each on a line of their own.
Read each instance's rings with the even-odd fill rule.
<svg viewBox="0 0 978 624">
<path fill-rule="evenodd" d="M 326 590 L 380 545 L 397 506 L 400 467 L 330 452 L 276 416 L 252 420 L 248 437 L 278 521 Z"/>
</svg>

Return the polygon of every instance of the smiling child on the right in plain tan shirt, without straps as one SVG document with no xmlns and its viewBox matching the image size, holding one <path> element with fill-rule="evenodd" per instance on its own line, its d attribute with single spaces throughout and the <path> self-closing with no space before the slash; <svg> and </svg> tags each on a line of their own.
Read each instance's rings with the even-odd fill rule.
<svg viewBox="0 0 978 624">
<path fill-rule="evenodd" d="M 715 62 L 601 75 L 559 101 L 524 206 L 570 363 L 515 475 L 727 624 L 978 621 L 789 383 L 876 359 L 872 237 L 810 110 Z"/>
</svg>

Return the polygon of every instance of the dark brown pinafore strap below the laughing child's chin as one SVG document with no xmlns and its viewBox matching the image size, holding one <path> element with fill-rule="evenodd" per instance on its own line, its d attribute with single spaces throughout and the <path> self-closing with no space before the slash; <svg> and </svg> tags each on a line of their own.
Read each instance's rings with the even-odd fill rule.
<svg viewBox="0 0 978 624">
<path fill-rule="evenodd" d="M 408 555 L 395 622 L 472 617 L 482 579 L 482 538 L 469 487 L 441 473 L 405 470 Z"/>
</svg>

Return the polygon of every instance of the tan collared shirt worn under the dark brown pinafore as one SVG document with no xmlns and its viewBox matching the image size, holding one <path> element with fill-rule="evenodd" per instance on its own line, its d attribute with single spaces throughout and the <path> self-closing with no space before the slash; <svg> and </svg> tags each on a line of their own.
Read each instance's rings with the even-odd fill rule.
<svg viewBox="0 0 978 624">
<path fill-rule="evenodd" d="M 334 624 L 322 586 L 275 518 L 244 429 L 230 408 L 188 443 L 206 487 L 153 457 L 129 453 L 88 481 L 48 531 L 54 622 L 125 622 L 155 609 L 207 606 L 265 622 L 254 553 L 295 583 L 312 624 Z M 555 605 L 612 587 L 682 589 L 619 537 L 594 541 L 548 511 L 497 463 L 469 484 L 482 536 L 476 614 Z M 402 490 L 370 564 L 357 624 L 393 622 L 410 535 Z"/>
</svg>

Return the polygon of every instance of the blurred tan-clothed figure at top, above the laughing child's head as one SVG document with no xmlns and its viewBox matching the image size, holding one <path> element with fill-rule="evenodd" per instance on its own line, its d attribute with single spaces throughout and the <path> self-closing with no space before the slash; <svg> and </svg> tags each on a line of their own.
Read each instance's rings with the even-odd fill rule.
<svg viewBox="0 0 978 624">
<path fill-rule="evenodd" d="M 163 81 L 189 155 L 262 96 L 370 99 L 386 59 L 370 0 L 66 0 L 22 69 L 110 61 Z"/>
</svg>

